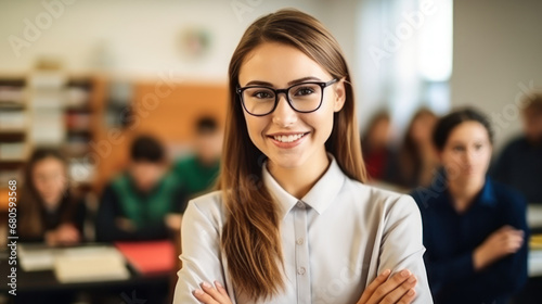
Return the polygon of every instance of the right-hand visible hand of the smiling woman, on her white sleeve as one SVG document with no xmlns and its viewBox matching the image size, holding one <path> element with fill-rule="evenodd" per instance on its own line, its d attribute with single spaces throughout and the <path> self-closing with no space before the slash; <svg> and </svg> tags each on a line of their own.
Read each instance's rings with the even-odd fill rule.
<svg viewBox="0 0 542 304">
<path fill-rule="evenodd" d="M 363 291 L 357 304 L 410 304 L 416 296 L 414 287 L 417 283 L 416 277 L 404 269 L 395 274 L 389 280 L 389 269 L 384 270 Z"/>
</svg>

